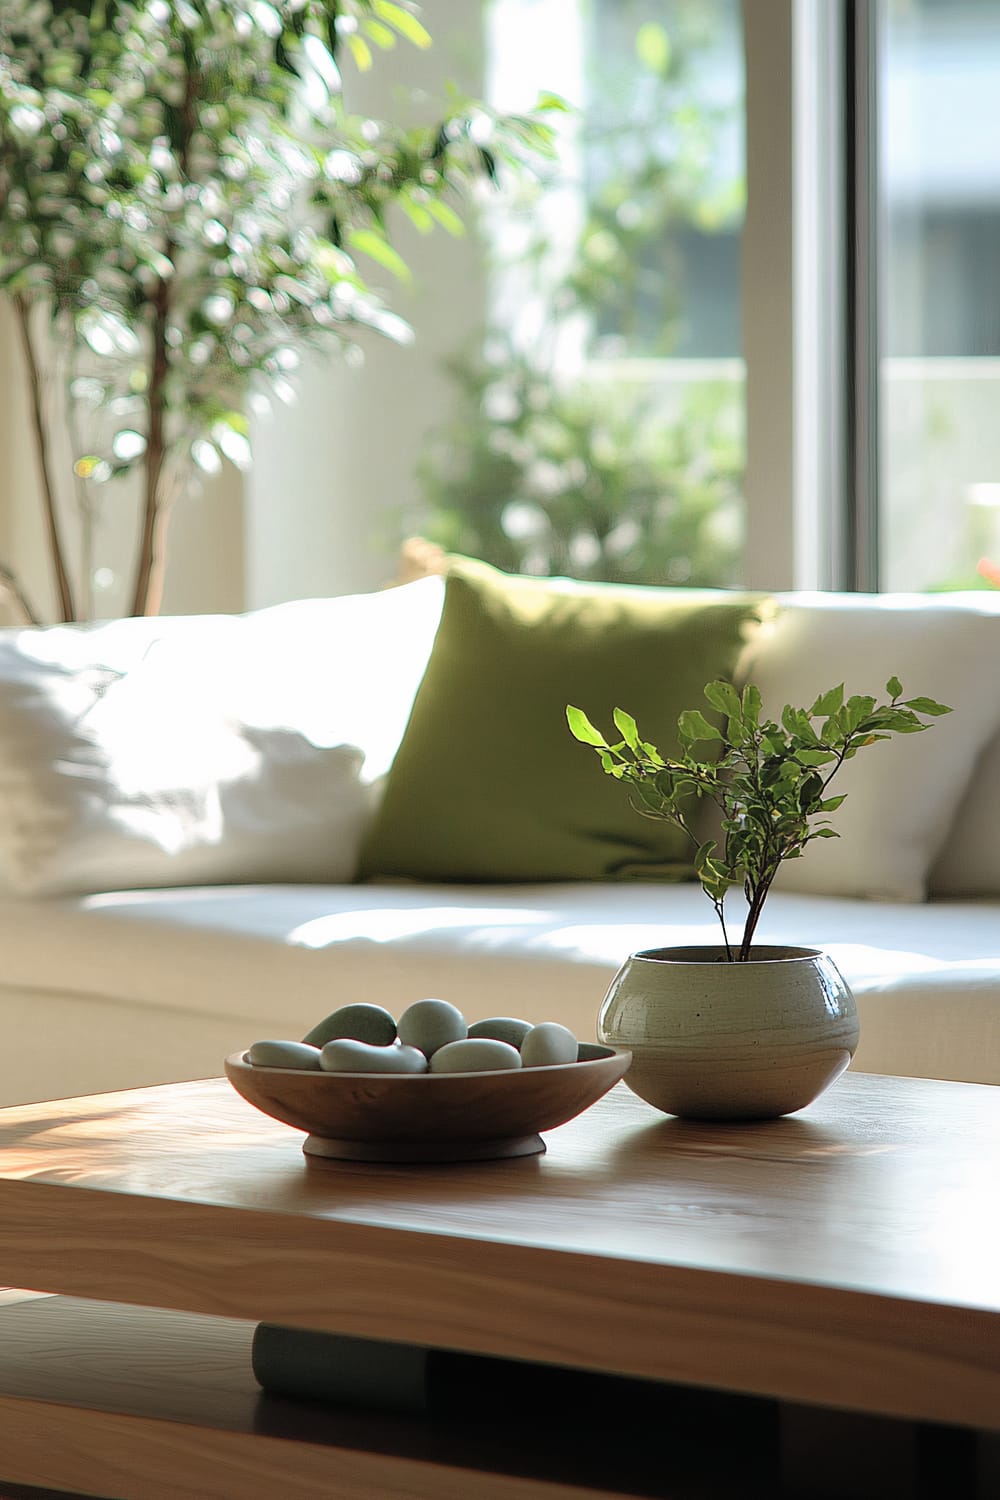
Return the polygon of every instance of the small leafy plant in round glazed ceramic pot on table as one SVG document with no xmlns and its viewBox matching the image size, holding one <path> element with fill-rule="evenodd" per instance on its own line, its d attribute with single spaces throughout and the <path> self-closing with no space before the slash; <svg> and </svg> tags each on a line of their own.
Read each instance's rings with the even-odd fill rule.
<svg viewBox="0 0 1000 1500">
<path fill-rule="evenodd" d="M 754 684 L 738 693 L 709 682 L 712 718 L 678 718 L 679 753 L 642 740 L 636 720 L 615 710 L 621 735 L 609 742 L 570 705 L 571 734 L 600 756 L 646 818 L 690 838 L 694 872 L 715 908 L 723 942 L 633 954 L 601 1006 L 598 1035 L 633 1052 L 630 1088 L 670 1114 L 691 1119 L 771 1119 L 804 1108 L 847 1068 L 858 1047 L 853 996 L 832 960 L 816 948 L 754 945 L 778 870 L 814 838 L 835 838 L 831 813 L 844 801 L 831 782 L 859 750 L 897 734 L 919 734 L 951 712 L 931 698 L 903 698 L 898 678 L 886 702 L 844 698 L 834 687 L 810 708 L 765 717 Z M 717 838 L 696 832 L 700 804 L 714 804 Z M 726 896 L 742 885 L 747 916 L 730 936 Z"/>
</svg>

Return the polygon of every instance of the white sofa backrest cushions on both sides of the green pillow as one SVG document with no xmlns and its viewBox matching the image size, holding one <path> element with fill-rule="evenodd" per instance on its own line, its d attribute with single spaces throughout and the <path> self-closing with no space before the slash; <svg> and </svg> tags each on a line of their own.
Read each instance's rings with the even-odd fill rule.
<svg viewBox="0 0 1000 1500">
<path fill-rule="evenodd" d="M 189 746 L 216 747 L 213 795 L 226 786 L 234 756 L 243 768 L 234 776 L 243 802 L 229 824 L 216 808 L 205 832 L 202 796 L 201 854 L 189 866 L 174 858 L 169 884 L 294 879 L 286 843 L 268 864 L 270 855 L 231 834 L 247 819 L 273 828 L 294 813 L 301 837 L 307 796 L 328 807 L 349 802 L 351 816 L 327 830 L 339 860 L 325 870 L 313 861 L 301 878 L 333 878 L 330 870 L 352 878 L 363 820 L 433 650 L 444 590 L 441 578 L 427 578 L 246 615 L 0 630 L 0 888 L 24 888 L 12 868 L 12 826 L 22 850 L 42 832 L 48 840 L 49 874 L 37 878 L 39 891 L 60 888 L 55 867 L 70 882 L 84 872 L 85 884 L 72 888 L 106 888 L 108 819 L 115 837 L 124 824 L 135 838 L 136 807 L 138 822 L 147 822 L 141 848 L 133 843 L 117 867 L 118 884 L 157 884 L 148 879 L 148 849 L 162 852 L 174 840 L 183 850 L 195 837 L 177 830 L 183 789 L 160 777 L 123 790 L 123 766 L 141 782 L 136 768 L 145 765 L 135 746 L 130 758 L 123 753 L 120 740 L 136 706 L 147 740 L 169 724 Z M 792 592 L 777 596 L 777 606 L 736 674 L 741 682 L 757 681 L 772 716 L 784 702 L 808 706 L 841 681 L 849 693 L 885 696 L 891 675 L 904 696 L 939 698 L 955 710 L 927 734 L 874 746 L 838 772 L 837 790 L 849 794 L 834 819 L 841 838 L 817 842 L 790 862 L 780 878 L 784 890 L 895 900 L 1000 896 L 1000 594 Z M 348 747 L 355 748 L 345 756 Z M 247 788 L 258 802 L 246 801 Z M 180 813 L 190 820 L 190 804 Z M 73 860 L 60 861 L 60 838 Z"/>
</svg>

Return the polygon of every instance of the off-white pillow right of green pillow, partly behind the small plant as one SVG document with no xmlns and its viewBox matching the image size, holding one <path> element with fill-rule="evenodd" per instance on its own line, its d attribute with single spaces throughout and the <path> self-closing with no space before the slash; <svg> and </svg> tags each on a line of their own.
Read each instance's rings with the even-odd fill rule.
<svg viewBox="0 0 1000 1500">
<path fill-rule="evenodd" d="M 777 618 L 762 627 L 739 663 L 741 681 L 760 687 L 778 718 L 784 704 L 808 708 L 844 682 L 849 694 L 883 700 L 891 676 L 906 698 L 954 708 L 919 735 L 861 750 L 838 772 L 831 795 L 840 838 L 811 843 L 789 861 L 777 890 L 919 902 L 981 750 L 1000 728 L 996 682 L 1000 597 L 988 594 L 780 594 Z"/>
</svg>

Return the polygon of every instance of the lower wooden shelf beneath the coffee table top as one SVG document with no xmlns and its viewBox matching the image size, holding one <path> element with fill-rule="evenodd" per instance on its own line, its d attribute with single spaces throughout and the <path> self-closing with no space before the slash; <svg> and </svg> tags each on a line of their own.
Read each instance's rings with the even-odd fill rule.
<svg viewBox="0 0 1000 1500">
<path fill-rule="evenodd" d="M 109 1500 L 805 1500 L 823 1492 L 813 1446 L 829 1455 L 823 1422 L 840 1420 L 798 1408 L 789 1425 L 774 1402 L 669 1386 L 661 1420 L 642 1426 L 621 1412 L 460 1424 L 334 1412 L 264 1395 L 252 1334 L 162 1310 L 0 1296 L 0 1500 L 4 1482 Z M 879 1419 L 865 1420 L 871 1437 Z M 907 1488 L 915 1430 L 889 1431 L 900 1488 L 879 1494 L 922 1500 Z M 996 1440 L 982 1461 L 970 1455 L 955 1500 L 996 1494 L 985 1488 Z M 852 1492 L 865 1492 L 861 1479 Z"/>
</svg>

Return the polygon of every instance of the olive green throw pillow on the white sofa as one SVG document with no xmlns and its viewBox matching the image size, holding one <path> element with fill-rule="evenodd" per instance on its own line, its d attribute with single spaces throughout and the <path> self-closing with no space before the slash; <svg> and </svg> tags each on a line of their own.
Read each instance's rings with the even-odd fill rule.
<svg viewBox="0 0 1000 1500">
<path fill-rule="evenodd" d="M 514 578 L 451 558 L 427 670 L 361 854 L 361 878 L 691 876 L 678 830 L 642 818 L 570 734 L 618 705 L 676 750 L 678 714 L 732 676 L 763 596 Z"/>
</svg>

